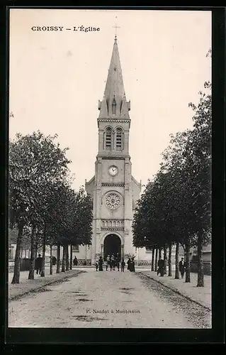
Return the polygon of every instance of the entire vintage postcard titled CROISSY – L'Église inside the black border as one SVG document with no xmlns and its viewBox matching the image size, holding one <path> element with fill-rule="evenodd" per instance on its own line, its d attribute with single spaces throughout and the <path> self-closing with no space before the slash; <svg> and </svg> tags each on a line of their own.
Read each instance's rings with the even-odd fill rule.
<svg viewBox="0 0 226 355">
<path fill-rule="evenodd" d="M 211 329 L 211 11 L 9 12 L 9 328 Z"/>
</svg>

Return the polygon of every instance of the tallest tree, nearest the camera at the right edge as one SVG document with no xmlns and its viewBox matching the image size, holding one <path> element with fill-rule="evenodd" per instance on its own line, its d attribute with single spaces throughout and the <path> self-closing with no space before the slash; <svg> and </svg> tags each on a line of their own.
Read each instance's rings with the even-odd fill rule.
<svg viewBox="0 0 226 355">
<path fill-rule="evenodd" d="M 210 82 L 205 82 L 205 89 L 211 89 Z M 194 187 L 194 207 L 196 226 L 194 231 L 198 236 L 198 287 L 204 286 L 203 277 L 203 245 L 210 241 L 211 219 L 211 131 L 212 131 L 212 97 L 211 94 L 199 92 L 198 106 L 190 103 L 195 112 L 193 116 L 194 129 L 191 146 L 188 150 L 188 163 L 193 169 L 196 184 Z M 190 153 L 190 154 L 189 154 Z"/>
</svg>

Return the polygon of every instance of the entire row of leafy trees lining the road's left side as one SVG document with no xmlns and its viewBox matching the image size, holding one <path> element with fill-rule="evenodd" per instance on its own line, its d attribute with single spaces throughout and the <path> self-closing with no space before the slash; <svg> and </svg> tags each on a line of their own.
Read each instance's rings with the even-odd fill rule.
<svg viewBox="0 0 226 355">
<path fill-rule="evenodd" d="M 9 224 L 18 230 L 12 283 L 19 283 L 20 251 L 24 237 L 30 241 L 29 279 L 34 278 L 37 246 L 43 247 L 41 276 L 45 276 L 45 249 L 57 246 L 57 273 L 68 269 L 69 245 L 91 244 L 92 201 L 83 188 L 72 189 L 67 148 L 55 143 L 55 136 L 40 131 L 17 134 L 9 143 Z M 35 252 L 36 246 L 36 252 Z M 72 259 L 72 258 L 71 258 Z M 52 272 L 50 257 L 50 273 Z M 72 263 L 72 261 L 71 261 Z"/>
</svg>

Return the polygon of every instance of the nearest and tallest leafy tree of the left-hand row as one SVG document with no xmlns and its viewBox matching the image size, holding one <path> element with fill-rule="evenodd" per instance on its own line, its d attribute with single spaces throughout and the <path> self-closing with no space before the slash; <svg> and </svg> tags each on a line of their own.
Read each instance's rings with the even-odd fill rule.
<svg viewBox="0 0 226 355">
<path fill-rule="evenodd" d="M 57 135 L 45 137 L 38 131 L 26 136 L 17 134 L 9 144 L 9 216 L 11 226 L 19 229 L 12 283 L 19 283 L 24 227 L 45 226 L 49 186 L 67 178 L 67 148 L 62 150 L 55 138 Z M 45 233 L 43 236 L 45 241 Z"/>
</svg>

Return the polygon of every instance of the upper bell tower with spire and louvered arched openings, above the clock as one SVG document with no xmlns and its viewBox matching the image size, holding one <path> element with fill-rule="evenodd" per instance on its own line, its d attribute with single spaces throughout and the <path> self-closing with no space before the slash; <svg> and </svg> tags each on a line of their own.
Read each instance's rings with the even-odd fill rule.
<svg viewBox="0 0 226 355">
<path fill-rule="evenodd" d="M 103 100 L 98 102 L 98 157 L 129 156 L 130 102 L 125 97 L 117 38 L 113 45 Z"/>
</svg>

